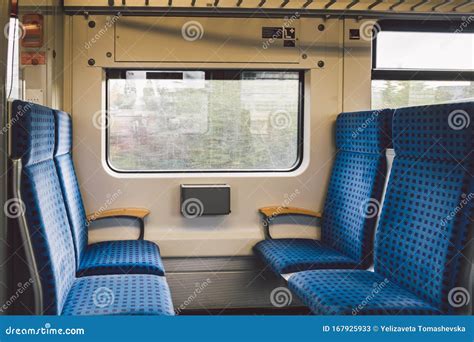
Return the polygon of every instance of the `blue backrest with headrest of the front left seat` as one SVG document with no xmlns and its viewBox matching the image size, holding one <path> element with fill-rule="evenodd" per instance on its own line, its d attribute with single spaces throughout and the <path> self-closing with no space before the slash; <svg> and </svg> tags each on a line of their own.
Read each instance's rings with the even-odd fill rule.
<svg viewBox="0 0 474 342">
<path fill-rule="evenodd" d="M 75 279 L 74 245 L 53 161 L 54 115 L 49 108 L 14 101 L 10 157 L 21 168 L 14 199 L 24 206 L 25 244 L 31 246 L 40 279 L 44 314 L 59 314 Z"/>
</svg>

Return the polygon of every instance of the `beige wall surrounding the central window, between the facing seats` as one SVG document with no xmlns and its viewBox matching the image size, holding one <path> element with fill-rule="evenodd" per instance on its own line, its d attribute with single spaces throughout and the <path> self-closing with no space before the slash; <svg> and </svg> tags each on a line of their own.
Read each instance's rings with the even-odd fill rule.
<svg viewBox="0 0 474 342">
<path fill-rule="evenodd" d="M 217 174 L 217 175 L 126 175 L 118 178 L 104 163 L 104 132 L 94 124 L 95 113 L 105 107 L 103 69 L 91 67 L 84 43 L 89 27 L 84 17 L 73 17 L 72 115 L 74 120 L 74 158 L 85 206 L 88 211 L 100 207 L 146 207 L 151 215 L 146 221 L 145 238 L 159 243 L 164 256 L 249 255 L 263 238 L 257 208 L 267 205 L 290 205 L 319 210 L 322 207 L 328 175 L 334 155 L 333 124 L 340 112 L 342 94 L 342 22 L 339 20 L 301 19 L 298 65 L 279 68 L 304 68 L 305 155 L 304 163 L 292 174 Z M 324 31 L 317 29 L 325 25 Z M 135 37 L 136 38 L 136 37 Z M 205 36 L 203 37 L 205 39 Z M 134 39 L 136 42 L 138 39 Z M 130 42 L 132 43 L 132 42 Z M 101 44 L 95 46 L 100 47 Z M 143 47 L 146 49 L 147 47 Z M 245 48 L 243 48 L 245 50 Z M 106 51 L 101 51 L 105 53 Z M 100 51 L 97 51 L 100 53 Z M 146 52 L 144 52 L 146 53 Z M 245 52 L 242 52 L 244 54 Z M 278 58 L 278 57 L 277 57 Z M 318 61 L 324 61 L 318 67 Z M 159 63 L 107 61 L 114 67 L 203 67 L 202 63 Z M 258 64 L 205 64 L 204 67 L 256 68 Z M 273 67 L 271 63 L 269 67 Z M 227 183 L 232 188 L 232 213 L 228 216 L 186 219 L 179 210 L 179 185 L 182 183 Z M 118 195 L 117 195 L 118 194 Z M 111 199 L 113 198 L 113 201 Z M 112 202 L 112 203 L 110 203 Z M 107 204 L 109 203 L 109 204 Z M 287 226 L 281 234 L 297 231 L 302 236 L 317 236 L 314 227 L 299 229 Z M 283 231 L 282 231 L 283 230 Z M 90 242 L 127 238 L 136 230 L 110 227 L 91 229 Z"/>
</svg>

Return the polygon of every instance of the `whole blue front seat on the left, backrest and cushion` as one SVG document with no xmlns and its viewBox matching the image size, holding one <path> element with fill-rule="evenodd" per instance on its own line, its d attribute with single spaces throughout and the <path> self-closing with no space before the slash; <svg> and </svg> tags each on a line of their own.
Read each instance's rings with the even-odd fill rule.
<svg viewBox="0 0 474 342">
<path fill-rule="evenodd" d="M 53 159 L 53 111 L 14 101 L 10 123 L 12 200 L 18 201 L 22 208 L 18 225 L 34 280 L 34 312 L 173 315 L 164 277 L 123 274 L 76 277 L 74 243 Z"/>
</svg>

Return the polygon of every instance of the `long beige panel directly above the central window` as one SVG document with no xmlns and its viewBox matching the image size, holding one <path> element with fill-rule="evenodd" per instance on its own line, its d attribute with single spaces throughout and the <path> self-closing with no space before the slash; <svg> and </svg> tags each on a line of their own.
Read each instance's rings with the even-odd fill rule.
<svg viewBox="0 0 474 342">
<path fill-rule="evenodd" d="M 117 20 L 117 62 L 297 63 L 295 48 L 281 39 L 262 48 L 262 26 L 282 27 L 285 19 L 122 17 Z M 299 20 L 288 24 L 299 34 Z"/>
</svg>

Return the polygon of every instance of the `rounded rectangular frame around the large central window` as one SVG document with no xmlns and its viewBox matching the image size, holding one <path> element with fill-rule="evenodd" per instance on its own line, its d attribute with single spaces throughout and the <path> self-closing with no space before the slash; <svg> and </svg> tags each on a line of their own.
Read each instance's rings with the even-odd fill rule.
<svg viewBox="0 0 474 342">
<path fill-rule="evenodd" d="M 109 170 L 119 175 L 196 175 L 196 174 L 278 174 L 278 173 L 292 173 L 298 170 L 303 165 L 304 159 L 304 98 L 305 98 L 305 70 L 303 69 L 229 69 L 229 68 L 106 68 L 105 70 L 105 163 Z M 299 75 L 298 79 L 298 123 L 297 123 L 297 158 L 294 165 L 288 169 L 196 169 L 196 170 L 120 170 L 115 168 L 110 162 L 110 130 L 109 130 L 109 79 L 117 79 L 120 74 L 127 71 L 157 71 L 157 72 L 180 72 L 180 71 L 223 71 L 223 72 L 296 72 Z M 111 77 L 115 76 L 115 77 Z"/>
</svg>

